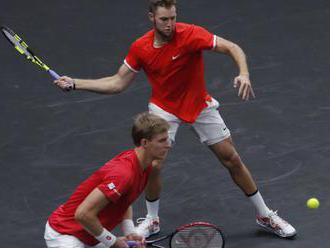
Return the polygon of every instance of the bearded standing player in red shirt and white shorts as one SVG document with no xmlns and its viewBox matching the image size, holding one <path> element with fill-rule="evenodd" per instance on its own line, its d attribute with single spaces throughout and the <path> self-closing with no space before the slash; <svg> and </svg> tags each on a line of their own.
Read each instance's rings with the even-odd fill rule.
<svg viewBox="0 0 330 248">
<path fill-rule="evenodd" d="M 233 181 L 255 206 L 257 224 L 281 237 L 294 236 L 296 230 L 265 204 L 217 110 L 219 103 L 206 90 L 202 55 L 204 50 L 212 50 L 229 55 L 235 61 L 239 70 L 239 75 L 234 79 L 238 96 L 242 100 L 254 98 L 244 52 L 235 43 L 200 26 L 177 23 L 175 0 L 150 0 L 148 15 L 153 29 L 133 42 L 115 75 L 97 80 L 64 76 L 56 80 L 55 84 L 63 90 L 75 88 L 116 94 L 125 90 L 143 69 L 152 87 L 149 111 L 170 123 L 171 141 L 174 141 L 181 123 L 190 123 L 200 141 L 229 170 Z M 158 209 L 161 164 L 158 170 L 154 170 L 146 188 L 148 214 L 138 227 L 138 232 L 145 237 L 160 230 Z"/>
</svg>

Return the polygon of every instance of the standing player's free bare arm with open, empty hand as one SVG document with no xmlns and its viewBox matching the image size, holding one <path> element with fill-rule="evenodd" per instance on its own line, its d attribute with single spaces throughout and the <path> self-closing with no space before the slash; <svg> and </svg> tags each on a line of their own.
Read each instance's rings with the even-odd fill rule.
<svg viewBox="0 0 330 248">
<path fill-rule="evenodd" d="M 242 100 L 249 100 L 250 96 L 255 98 L 251 85 L 246 56 L 243 50 L 235 43 L 217 36 L 216 52 L 224 53 L 233 58 L 238 69 L 239 75 L 234 79 L 234 88 L 238 87 L 238 96 Z"/>
</svg>

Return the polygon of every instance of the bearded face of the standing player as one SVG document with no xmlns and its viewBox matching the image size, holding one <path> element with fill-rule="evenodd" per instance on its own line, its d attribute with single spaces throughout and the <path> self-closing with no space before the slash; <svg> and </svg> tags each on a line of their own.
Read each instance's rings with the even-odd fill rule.
<svg viewBox="0 0 330 248">
<path fill-rule="evenodd" d="M 155 13 L 149 13 L 154 29 L 164 39 L 172 38 L 175 31 L 176 7 L 158 7 Z"/>
</svg>

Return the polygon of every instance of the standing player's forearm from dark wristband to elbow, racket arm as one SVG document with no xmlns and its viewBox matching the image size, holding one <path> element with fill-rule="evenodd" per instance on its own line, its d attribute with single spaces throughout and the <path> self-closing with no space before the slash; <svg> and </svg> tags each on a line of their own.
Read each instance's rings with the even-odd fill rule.
<svg viewBox="0 0 330 248">
<path fill-rule="evenodd" d="M 102 94 L 118 94 L 124 90 L 117 75 L 100 79 L 74 79 L 76 90 L 87 90 Z"/>
</svg>

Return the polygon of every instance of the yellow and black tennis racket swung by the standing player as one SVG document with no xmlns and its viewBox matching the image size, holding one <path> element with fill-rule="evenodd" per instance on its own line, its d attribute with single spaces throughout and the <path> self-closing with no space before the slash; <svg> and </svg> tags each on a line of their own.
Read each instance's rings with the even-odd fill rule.
<svg viewBox="0 0 330 248">
<path fill-rule="evenodd" d="M 24 55 L 29 61 L 38 65 L 43 70 L 47 71 L 54 79 L 58 79 L 60 76 L 53 70 L 51 70 L 45 63 L 41 61 L 29 48 L 29 46 L 20 38 L 13 30 L 8 27 L 2 26 L 1 32 L 7 38 L 7 40 L 15 47 L 15 49 L 22 55 Z"/>
</svg>

